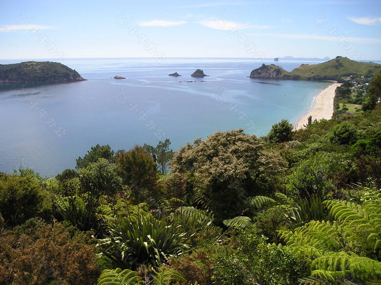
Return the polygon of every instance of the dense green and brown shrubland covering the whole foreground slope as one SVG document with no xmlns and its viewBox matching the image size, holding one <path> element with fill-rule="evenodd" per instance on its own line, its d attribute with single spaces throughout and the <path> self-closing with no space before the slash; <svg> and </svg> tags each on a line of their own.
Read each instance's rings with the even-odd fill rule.
<svg viewBox="0 0 381 285">
<path fill-rule="evenodd" d="M 380 107 L 169 144 L 1 173 L 0 285 L 380 284 Z"/>
</svg>

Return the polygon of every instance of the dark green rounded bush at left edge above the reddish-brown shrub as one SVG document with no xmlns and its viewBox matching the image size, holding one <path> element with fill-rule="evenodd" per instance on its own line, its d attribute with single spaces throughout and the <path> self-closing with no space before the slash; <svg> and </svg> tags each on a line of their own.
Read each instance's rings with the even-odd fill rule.
<svg viewBox="0 0 381 285">
<path fill-rule="evenodd" d="M 0 213 L 8 225 L 18 225 L 36 216 L 41 202 L 40 185 L 32 177 L 0 177 Z"/>
</svg>

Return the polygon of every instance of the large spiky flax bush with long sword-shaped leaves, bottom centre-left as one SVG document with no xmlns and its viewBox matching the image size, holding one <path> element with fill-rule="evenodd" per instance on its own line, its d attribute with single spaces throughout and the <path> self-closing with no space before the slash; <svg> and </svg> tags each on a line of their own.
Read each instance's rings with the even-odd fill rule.
<svg viewBox="0 0 381 285">
<path fill-rule="evenodd" d="M 159 266 L 169 257 L 182 254 L 189 248 L 185 242 L 186 233 L 181 226 L 151 214 L 139 214 L 134 222 L 119 219 L 98 247 L 100 257 L 114 266 L 136 268 L 141 264 Z"/>
</svg>

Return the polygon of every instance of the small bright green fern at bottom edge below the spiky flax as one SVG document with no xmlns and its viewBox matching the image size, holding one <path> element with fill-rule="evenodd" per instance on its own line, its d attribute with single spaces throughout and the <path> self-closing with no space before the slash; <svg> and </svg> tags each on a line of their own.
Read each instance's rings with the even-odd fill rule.
<svg viewBox="0 0 381 285">
<path fill-rule="evenodd" d="M 98 279 L 98 285 L 143 285 L 144 282 L 135 271 L 129 269 L 122 270 L 105 269 Z"/>
</svg>

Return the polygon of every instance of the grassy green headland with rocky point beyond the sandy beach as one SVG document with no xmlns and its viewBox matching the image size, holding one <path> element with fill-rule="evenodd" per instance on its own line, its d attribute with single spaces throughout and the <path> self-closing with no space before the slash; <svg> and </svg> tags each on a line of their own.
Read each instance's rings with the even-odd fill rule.
<svg viewBox="0 0 381 285">
<path fill-rule="evenodd" d="M 336 57 L 319 64 L 302 64 L 288 72 L 275 64 L 262 64 L 254 69 L 251 78 L 338 80 L 341 76 L 374 76 L 381 69 L 381 64 L 359 62 L 347 57 Z"/>
</svg>

